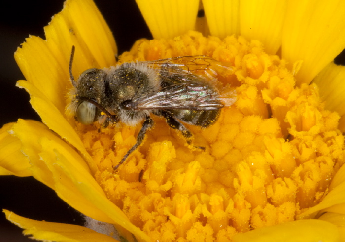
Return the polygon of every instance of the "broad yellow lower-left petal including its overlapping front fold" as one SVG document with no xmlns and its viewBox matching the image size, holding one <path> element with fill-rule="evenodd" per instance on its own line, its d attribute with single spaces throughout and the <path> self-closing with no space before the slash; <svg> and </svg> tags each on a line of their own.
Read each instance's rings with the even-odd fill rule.
<svg viewBox="0 0 345 242">
<path fill-rule="evenodd" d="M 137 238 L 147 239 L 106 198 L 77 152 L 45 125 L 19 120 L 11 131 L 23 143 L 23 150 L 33 163 L 33 176 L 37 180 L 53 188 L 60 198 L 81 213 L 106 223 L 117 223 Z"/>
</svg>

